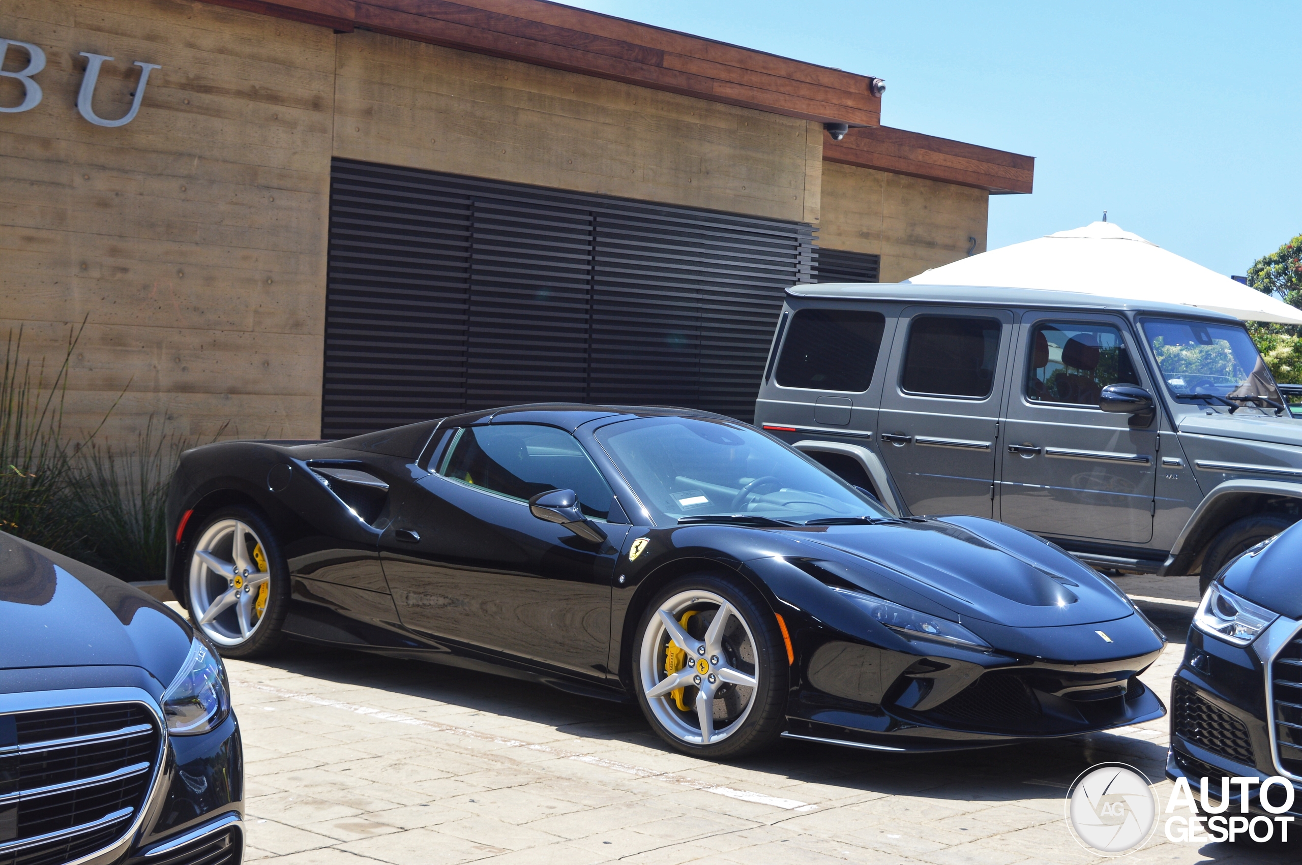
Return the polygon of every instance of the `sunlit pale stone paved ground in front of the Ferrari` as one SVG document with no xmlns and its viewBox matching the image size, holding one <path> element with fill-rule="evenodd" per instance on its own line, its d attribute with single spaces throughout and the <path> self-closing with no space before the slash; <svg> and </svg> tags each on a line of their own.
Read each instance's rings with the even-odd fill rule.
<svg viewBox="0 0 1302 865">
<path fill-rule="evenodd" d="M 1170 636 L 1144 676 L 1169 693 L 1197 583 L 1121 583 Z M 1167 749 L 1163 719 L 944 756 L 784 741 L 721 765 L 669 752 L 633 708 L 510 679 L 301 645 L 229 671 L 249 857 L 285 865 L 1101 862 L 1068 834 L 1066 786 L 1109 760 L 1159 779 Z M 1298 849 L 1173 844 L 1159 829 L 1128 861 L 1293 862 Z"/>
</svg>

